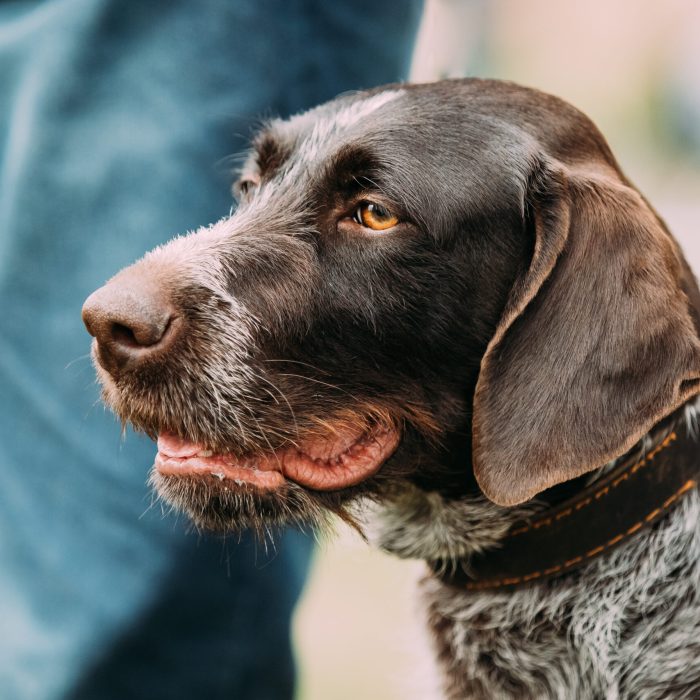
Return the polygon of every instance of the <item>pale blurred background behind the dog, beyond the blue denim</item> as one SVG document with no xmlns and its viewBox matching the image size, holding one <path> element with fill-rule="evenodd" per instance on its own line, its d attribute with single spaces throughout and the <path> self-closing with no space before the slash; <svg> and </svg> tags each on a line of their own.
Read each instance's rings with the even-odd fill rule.
<svg viewBox="0 0 700 700">
<path fill-rule="evenodd" d="M 480 76 L 588 114 L 700 270 L 700 3 L 427 0 L 413 81 Z M 422 566 L 339 528 L 297 609 L 299 700 L 431 696 L 415 580 Z"/>
</svg>

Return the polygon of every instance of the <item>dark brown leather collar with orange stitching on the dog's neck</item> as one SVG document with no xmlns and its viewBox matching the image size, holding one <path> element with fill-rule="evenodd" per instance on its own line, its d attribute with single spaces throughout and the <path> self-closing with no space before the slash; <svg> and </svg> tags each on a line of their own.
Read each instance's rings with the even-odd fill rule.
<svg viewBox="0 0 700 700">
<path fill-rule="evenodd" d="M 700 481 L 698 443 L 682 415 L 663 421 L 641 456 L 637 449 L 636 459 L 623 459 L 575 496 L 515 523 L 500 548 L 457 566 L 431 562 L 434 574 L 467 590 L 509 590 L 567 574 L 639 535 Z"/>
</svg>

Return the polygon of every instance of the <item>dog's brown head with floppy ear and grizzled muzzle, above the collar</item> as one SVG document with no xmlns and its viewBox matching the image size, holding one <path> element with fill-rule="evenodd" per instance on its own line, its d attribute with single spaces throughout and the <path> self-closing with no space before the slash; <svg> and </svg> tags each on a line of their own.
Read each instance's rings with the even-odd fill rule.
<svg viewBox="0 0 700 700">
<path fill-rule="evenodd" d="M 679 249 L 569 105 L 389 86 L 273 121 L 239 206 L 86 302 L 106 402 L 203 527 L 410 481 L 501 505 L 623 453 L 700 391 Z"/>
</svg>

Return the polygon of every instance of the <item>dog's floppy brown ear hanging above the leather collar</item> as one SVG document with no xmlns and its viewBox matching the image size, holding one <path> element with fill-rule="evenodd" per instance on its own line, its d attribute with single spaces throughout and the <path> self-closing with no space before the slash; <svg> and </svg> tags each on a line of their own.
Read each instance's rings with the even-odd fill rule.
<svg viewBox="0 0 700 700">
<path fill-rule="evenodd" d="M 542 166 L 535 244 L 481 363 L 473 464 L 522 503 L 630 449 L 700 392 L 700 342 L 675 241 L 611 167 Z"/>
</svg>

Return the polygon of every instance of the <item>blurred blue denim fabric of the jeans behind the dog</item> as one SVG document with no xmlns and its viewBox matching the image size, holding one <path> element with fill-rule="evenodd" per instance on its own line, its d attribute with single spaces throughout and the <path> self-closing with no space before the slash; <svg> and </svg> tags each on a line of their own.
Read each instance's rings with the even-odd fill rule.
<svg viewBox="0 0 700 700">
<path fill-rule="evenodd" d="M 292 694 L 310 543 L 267 556 L 151 507 L 80 321 L 230 207 L 255 118 L 405 76 L 419 0 L 0 1 L 0 698 Z"/>
</svg>

